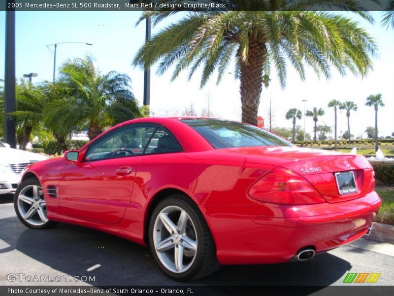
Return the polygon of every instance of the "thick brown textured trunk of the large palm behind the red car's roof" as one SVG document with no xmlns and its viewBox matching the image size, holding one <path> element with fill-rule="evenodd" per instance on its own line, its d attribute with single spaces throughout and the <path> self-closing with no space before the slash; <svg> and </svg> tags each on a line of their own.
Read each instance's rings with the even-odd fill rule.
<svg viewBox="0 0 394 296">
<path fill-rule="evenodd" d="M 263 85 L 263 63 L 266 58 L 262 52 L 265 52 L 264 43 L 253 39 L 249 39 L 247 61 L 243 61 L 241 53 L 238 52 L 242 122 L 254 125 L 257 125 L 257 112 Z"/>
</svg>

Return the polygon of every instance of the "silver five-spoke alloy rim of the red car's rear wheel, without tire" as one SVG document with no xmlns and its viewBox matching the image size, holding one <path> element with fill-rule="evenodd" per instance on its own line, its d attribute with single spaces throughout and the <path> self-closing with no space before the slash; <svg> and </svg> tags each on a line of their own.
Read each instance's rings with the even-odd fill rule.
<svg viewBox="0 0 394 296">
<path fill-rule="evenodd" d="M 153 231 L 156 254 L 165 268 L 174 273 L 187 271 L 197 255 L 197 232 L 189 214 L 177 206 L 165 207 Z"/>
</svg>

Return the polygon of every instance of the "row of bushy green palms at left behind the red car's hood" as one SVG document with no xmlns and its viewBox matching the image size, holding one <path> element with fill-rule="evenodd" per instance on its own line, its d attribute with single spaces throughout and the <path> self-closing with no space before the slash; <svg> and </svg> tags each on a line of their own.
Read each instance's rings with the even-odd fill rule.
<svg viewBox="0 0 394 296">
<path fill-rule="evenodd" d="M 16 140 L 21 149 L 32 135 L 56 139 L 67 150 L 66 139 L 74 131 L 87 130 L 90 140 L 106 127 L 143 116 L 131 91 L 127 74 L 100 73 L 93 58 L 67 60 L 55 83 L 16 83 Z M 0 116 L 4 93 L 0 90 Z M 3 118 L 0 118 L 3 122 Z M 0 136 L 3 134 L 1 125 Z"/>
</svg>

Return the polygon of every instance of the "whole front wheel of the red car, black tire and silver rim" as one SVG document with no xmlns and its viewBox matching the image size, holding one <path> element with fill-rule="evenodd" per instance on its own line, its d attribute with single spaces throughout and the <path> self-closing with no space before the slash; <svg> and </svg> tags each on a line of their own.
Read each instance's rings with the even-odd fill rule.
<svg viewBox="0 0 394 296">
<path fill-rule="evenodd" d="M 49 228 L 56 224 L 46 216 L 42 187 L 35 178 L 27 179 L 18 186 L 14 195 L 14 209 L 19 220 L 30 228 Z"/>
</svg>

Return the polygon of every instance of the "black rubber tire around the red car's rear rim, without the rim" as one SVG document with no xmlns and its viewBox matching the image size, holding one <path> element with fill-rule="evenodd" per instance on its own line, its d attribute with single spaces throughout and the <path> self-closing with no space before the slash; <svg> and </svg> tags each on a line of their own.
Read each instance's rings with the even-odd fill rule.
<svg viewBox="0 0 394 296">
<path fill-rule="evenodd" d="M 194 224 L 197 234 L 197 252 L 195 253 L 195 259 L 189 269 L 182 273 L 171 271 L 161 262 L 156 252 L 153 239 L 154 232 L 158 231 L 155 229 L 156 218 L 163 209 L 169 206 L 176 206 L 186 211 L 190 217 L 190 220 Z M 184 195 L 171 195 L 156 206 L 149 223 L 149 246 L 153 257 L 164 274 L 177 281 L 190 281 L 203 278 L 214 273 L 220 267 L 216 257 L 215 242 L 212 238 L 209 227 L 197 205 Z"/>
</svg>

